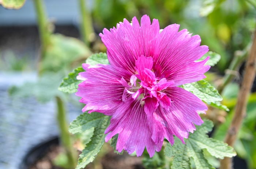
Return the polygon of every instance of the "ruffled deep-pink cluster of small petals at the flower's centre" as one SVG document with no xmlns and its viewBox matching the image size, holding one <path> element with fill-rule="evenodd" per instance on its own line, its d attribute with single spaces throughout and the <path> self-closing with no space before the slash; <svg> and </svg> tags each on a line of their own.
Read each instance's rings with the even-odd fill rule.
<svg viewBox="0 0 256 169">
<path fill-rule="evenodd" d="M 140 56 L 135 62 L 135 70 L 136 74 L 131 76 L 130 82 L 127 83 L 124 78 L 119 80 L 125 87 L 123 101 L 126 101 L 127 94 L 131 94 L 133 99 L 140 99 L 140 104 L 144 105 L 144 111 L 147 115 L 152 114 L 159 103 L 166 110 L 169 110 L 171 99 L 162 90 L 172 86 L 174 82 L 167 81 L 166 78 L 156 77 L 153 72 L 152 57 Z M 139 84 L 137 87 L 136 83 Z"/>
</svg>

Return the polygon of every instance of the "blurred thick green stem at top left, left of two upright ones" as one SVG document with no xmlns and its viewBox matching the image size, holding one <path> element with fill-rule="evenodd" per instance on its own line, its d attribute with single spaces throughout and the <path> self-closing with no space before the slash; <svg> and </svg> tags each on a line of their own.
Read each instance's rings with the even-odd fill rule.
<svg viewBox="0 0 256 169">
<path fill-rule="evenodd" d="M 34 0 L 35 12 L 37 14 L 38 30 L 41 41 L 41 58 L 44 58 L 46 48 L 50 44 L 50 31 L 48 30 L 47 16 L 43 0 Z"/>
</svg>

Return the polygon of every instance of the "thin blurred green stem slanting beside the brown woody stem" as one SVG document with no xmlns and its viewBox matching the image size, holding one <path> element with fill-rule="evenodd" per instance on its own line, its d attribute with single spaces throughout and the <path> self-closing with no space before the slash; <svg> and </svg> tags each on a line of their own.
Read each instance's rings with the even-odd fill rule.
<svg viewBox="0 0 256 169">
<path fill-rule="evenodd" d="M 231 61 L 229 66 L 229 71 L 237 70 L 237 67 L 246 59 L 248 56 L 248 51 L 251 48 L 251 44 L 249 44 L 243 51 L 239 54 L 235 54 L 234 59 Z M 222 90 L 226 87 L 226 85 L 233 79 L 234 74 L 227 72 L 223 77 L 223 83 L 219 86 L 219 93 L 222 93 Z"/>
</svg>

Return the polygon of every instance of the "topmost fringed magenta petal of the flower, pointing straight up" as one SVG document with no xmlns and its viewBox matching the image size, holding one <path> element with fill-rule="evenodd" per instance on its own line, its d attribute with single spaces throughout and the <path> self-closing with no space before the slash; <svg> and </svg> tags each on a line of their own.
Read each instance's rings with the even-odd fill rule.
<svg viewBox="0 0 256 169">
<path fill-rule="evenodd" d="M 139 25 L 136 17 L 132 19 L 132 25 L 124 19 L 117 24 L 117 28 L 103 30 L 102 42 L 107 47 L 109 63 L 135 72 L 135 61 L 141 55 L 153 56 L 158 51 L 157 36 L 159 35 L 158 20 L 144 15 Z"/>
</svg>

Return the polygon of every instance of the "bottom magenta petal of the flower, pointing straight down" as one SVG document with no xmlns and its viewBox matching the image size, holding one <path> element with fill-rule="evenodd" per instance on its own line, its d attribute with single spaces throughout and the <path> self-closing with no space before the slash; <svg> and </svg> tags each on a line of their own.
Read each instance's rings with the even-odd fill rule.
<svg viewBox="0 0 256 169">
<path fill-rule="evenodd" d="M 118 133 L 116 144 L 118 152 L 124 149 L 131 154 L 136 151 L 137 156 L 141 156 L 146 146 L 152 157 L 155 150 L 159 152 L 162 147 L 162 142 L 155 144 L 151 139 L 146 114 L 140 106 L 140 101 L 133 100 L 131 97 L 127 98 L 127 102 L 123 103 L 113 114 L 106 133 L 109 133 L 105 138 L 106 142 Z"/>
</svg>

